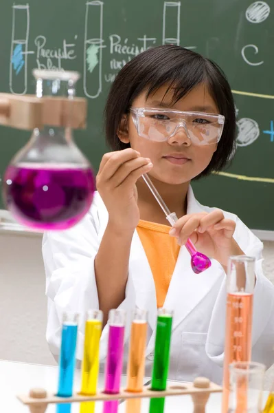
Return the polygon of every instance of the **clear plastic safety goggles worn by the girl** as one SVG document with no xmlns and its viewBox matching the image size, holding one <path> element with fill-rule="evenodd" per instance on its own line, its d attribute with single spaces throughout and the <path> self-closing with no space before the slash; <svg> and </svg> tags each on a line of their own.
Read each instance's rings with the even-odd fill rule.
<svg viewBox="0 0 274 413">
<path fill-rule="evenodd" d="M 130 112 L 142 138 L 163 142 L 172 138 L 180 127 L 194 145 L 212 145 L 219 142 L 225 116 L 203 112 L 181 112 L 157 107 L 132 107 Z"/>
</svg>

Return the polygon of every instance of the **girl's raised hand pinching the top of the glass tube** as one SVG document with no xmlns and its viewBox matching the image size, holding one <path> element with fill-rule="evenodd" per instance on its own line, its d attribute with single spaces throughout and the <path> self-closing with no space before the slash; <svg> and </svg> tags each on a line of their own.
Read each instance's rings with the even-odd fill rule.
<svg viewBox="0 0 274 413">
<path fill-rule="evenodd" d="M 140 219 L 136 182 L 152 166 L 150 159 L 131 148 L 104 154 L 96 186 L 115 231 L 135 230 Z"/>
</svg>

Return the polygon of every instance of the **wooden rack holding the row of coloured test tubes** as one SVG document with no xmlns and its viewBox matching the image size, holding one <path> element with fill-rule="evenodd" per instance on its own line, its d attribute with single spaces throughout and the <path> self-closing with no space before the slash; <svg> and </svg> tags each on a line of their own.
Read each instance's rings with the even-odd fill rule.
<svg viewBox="0 0 274 413">
<path fill-rule="evenodd" d="M 47 405 L 50 403 L 81 403 L 87 401 L 111 401 L 118 399 L 156 399 L 167 396 L 182 396 L 190 394 L 194 403 L 194 413 L 205 412 L 205 405 L 211 393 L 222 392 L 222 387 L 209 381 L 205 377 L 197 377 L 193 383 L 176 383 L 168 386 L 166 390 L 150 390 L 148 386 L 143 388 L 142 392 L 127 392 L 122 389 L 117 394 L 106 394 L 103 391 L 93 395 L 73 394 L 71 397 L 58 397 L 49 394 L 44 389 L 34 388 L 29 394 L 19 394 L 17 398 L 24 405 L 28 405 L 31 413 L 45 413 Z"/>
</svg>

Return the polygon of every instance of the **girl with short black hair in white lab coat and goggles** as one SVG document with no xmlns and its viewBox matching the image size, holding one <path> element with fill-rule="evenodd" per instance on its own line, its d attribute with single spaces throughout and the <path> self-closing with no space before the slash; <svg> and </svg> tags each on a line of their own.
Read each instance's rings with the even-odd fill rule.
<svg viewBox="0 0 274 413">
<path fill-rule="evenodd" d="M 193 113 L 194 112 L 194 113 Z M 174 310 L 170 379 L 220 383 L 230 255 L 256 258 L 253 360 L 273 363 L 274 286 L 262 273 L 262 242 L 240 219 L 204 207 L 190 182 L 220 171 L 234 150 L 231 89 L 219 67 L 174 45 L 139 54 L 119 72 L 106 103 L 106 140 L 91 211 L 69 231 L 46 233 L 47 341 L 60 348 L 63 311 L 148 310 L 146 375 L 151 374 L 157 307 Z M 141 178 L 148 173 L 170 211 L 172 229 Z M 212 259 L 196 275 L 183 246 L 190 237 Z M 129 326 L 128 326 L 129 327 Z M 84 325 L 78 333 L 82 358 Z M 124 346 L 125 365 L 129 328 Z M 108 326 L 100 357 L 106 357 Z M 126 366 L 124 366 L 126 367 Z"/>
</svg>

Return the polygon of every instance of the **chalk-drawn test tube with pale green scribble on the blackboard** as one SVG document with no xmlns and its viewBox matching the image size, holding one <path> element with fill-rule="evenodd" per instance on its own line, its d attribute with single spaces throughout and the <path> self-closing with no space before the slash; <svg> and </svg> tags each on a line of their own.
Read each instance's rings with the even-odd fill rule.
<svg viewBox="0 0 274 413">
<path fill-rule="evenodd" d="M 103 5 L 100 0 L 86 3 L 84 24 L 84 94 L 98 98 L 102 92 Z"/>
</svg>

